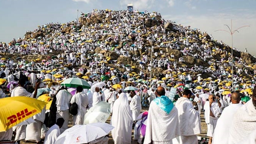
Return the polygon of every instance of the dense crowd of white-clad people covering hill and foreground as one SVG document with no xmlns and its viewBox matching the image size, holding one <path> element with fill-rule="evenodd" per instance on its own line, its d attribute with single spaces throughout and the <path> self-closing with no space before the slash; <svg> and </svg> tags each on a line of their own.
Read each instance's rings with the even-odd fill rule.
<svg viewBox="0 0 256 144">
<path fill-rule="evenodd" d="M 255 140 L 256 70 L 236 57 L 232 74 L 228 46 L 199 29 L 159 20 L 158 12 L 93 10 L 82 13 L 80 19 L 89 22 L 102 15 L 105 19 L 101 23 L 50 23 L 27 32 L 30 38 L 14 39 L 9 44 L 0 42 L 1 52 L 44 56 L 32 61 L 22 57 L 1 58 L 0 77 L 7 82 L 1 85 L 0 98 L 8 94 L 37 98 L 38 88 L 48 87 L 48 95 L 53 99 L 50 110 L 33 116 L 36 122 L 0 132 L 0 140 L 13 140 L 14 131 L 15 142 L 25 139 L 39 143 L 42 124 L 46 124 L 49 130 L 44 143 L 54 144 L 68 128 L 69 108 L 74 102 L 78 104 L 74 125 L 84 124 L 84 115 L 92 106 L 110 103 L 115 144 L 130 144 L 132 129 L 138 134 L 134 139 L 139 143 L 196 144 L 197 135 L 201 133 L 202 111 L 209 144 L 224 140 L 227 144 L 245 141 L 250 144 L 250 140 Z M 152 26 L 146 23 L 150 20 Z M 171 31 L 165 27 L 167 24 L 172 25 Z M 66 29 L 70 31 L 64 31 Z M 38 33 L 41 35 L 34 38 Z M 180 54 L 170 50 L 178 50 Z M 106 57 L 107 52 L 125 59 L 118 61 L 111 54 Z M 226 56 L 216 60 L 220 53 Z M 204 66 L 189 65 L 186 56 L 205 62 Z M 127 64 L 126 59 L 132 62 Z M 153 72 L 150 78 L 150 71 L 157 68 L 162 71 Z M 90 86 L 98 82 L 105 85 L 95 89 L 77 87 L 72 96 L 59 84 L 73 77 L 86 80 Z M 115 87 L 116 84 L 120 86 Z M 138 90 L 124 91 L 127 86 Z M 143 107 L 149 108 L 148 115 L 138 119 Z M 142 134 L 135 128 L 142 128 L 144 123 L 146 129 Z M 224 132 L 224 128 L 228 132 Z M 106 139 L 92 143 L 108 143 Z"/>
</svg>

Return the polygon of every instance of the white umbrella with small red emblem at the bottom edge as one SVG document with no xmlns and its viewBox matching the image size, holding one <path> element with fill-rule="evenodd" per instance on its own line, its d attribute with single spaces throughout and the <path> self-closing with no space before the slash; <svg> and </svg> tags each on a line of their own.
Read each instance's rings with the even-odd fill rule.
<svg viewBox="0 0 256 144">
<path fill-rule="evenodd" d="M 58 136 L 55 144 L 84 144 L 106 136 L 114 127 L 107 123 L 75 125 Z"/>
</svg>

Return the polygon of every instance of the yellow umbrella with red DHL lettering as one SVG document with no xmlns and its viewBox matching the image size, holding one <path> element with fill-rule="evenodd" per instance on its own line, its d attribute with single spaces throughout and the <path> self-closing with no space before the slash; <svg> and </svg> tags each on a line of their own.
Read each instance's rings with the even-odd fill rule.
<svg viewBox="0 0 256 144">
<path fill-rule="evenodd" d="M 4 132 L 40 113 L 45 105 L 46 102 L 25 96 L 1 98 L 0 132 Z"/>
</svg>

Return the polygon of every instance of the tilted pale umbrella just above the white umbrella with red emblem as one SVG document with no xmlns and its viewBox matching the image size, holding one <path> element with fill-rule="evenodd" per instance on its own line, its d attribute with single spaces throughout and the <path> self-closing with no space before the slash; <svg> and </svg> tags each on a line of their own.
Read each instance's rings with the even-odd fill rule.
<svg viewBox="0 0 256 144">
<path fill-rule="evenodd" d="M 84 124 L 106 122 L 110 116 L 110 103 L 100 102 L 88 110 L 84 116 Z"/>
</svg>

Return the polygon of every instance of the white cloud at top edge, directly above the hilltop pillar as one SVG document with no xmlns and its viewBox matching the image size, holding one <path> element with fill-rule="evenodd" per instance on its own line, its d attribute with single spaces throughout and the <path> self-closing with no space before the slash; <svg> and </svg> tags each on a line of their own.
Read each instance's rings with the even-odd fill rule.
<svg viewBox="0 0 256 144">
<path fill-rule="evenodd" d="M 134 10 L 148 10 L 154 5 L 155 0 L 120 0 L 121 6 L 133 4 Z"/>
</svg>

